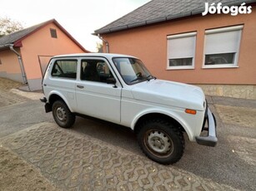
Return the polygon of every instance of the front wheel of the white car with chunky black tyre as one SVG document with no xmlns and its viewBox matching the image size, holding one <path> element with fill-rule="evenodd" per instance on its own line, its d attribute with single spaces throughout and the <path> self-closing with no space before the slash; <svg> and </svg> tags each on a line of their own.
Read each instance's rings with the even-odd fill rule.
<svg viewBox="0 0 256 191">
<path fill-rule="evenodd" d="M 137 137 L 143 153 L 159 164 L 174 164 L 183 156 L 183 133 L 168 120 L 144 121 Z"/>
</svg>

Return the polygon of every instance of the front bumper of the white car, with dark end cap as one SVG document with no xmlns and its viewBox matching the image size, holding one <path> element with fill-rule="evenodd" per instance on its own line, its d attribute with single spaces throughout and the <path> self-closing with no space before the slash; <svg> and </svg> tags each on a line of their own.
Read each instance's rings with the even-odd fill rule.
<svg viewBox="0 0 256 191">
<path fill-rule="evenodd" d="M 208 127 L 203 127 L 203 130 L 208 131 L 208 136 L 196 136 L 196 141 L 198 144 L 206 145 L 206 146 L 215 146 L 218 142 L 217 136 L 216 136 L 216 120 L 211 112 L 211 110 L 208 108 L 207 112 L 207 121 L 208 121 Z"/>
</svg>

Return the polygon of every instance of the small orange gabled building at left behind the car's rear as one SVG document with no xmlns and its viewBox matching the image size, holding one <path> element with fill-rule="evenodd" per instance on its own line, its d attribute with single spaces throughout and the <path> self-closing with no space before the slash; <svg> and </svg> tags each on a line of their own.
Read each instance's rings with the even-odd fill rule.
<svg viewBox="0 0 256 191">
<path fill-rule="evenodd" d="M 85 50 L 56 20 L 43 22 L 0 38 L 0 77 L 42 89 L 42 77 L 52 56 Z"/>
</svg>

